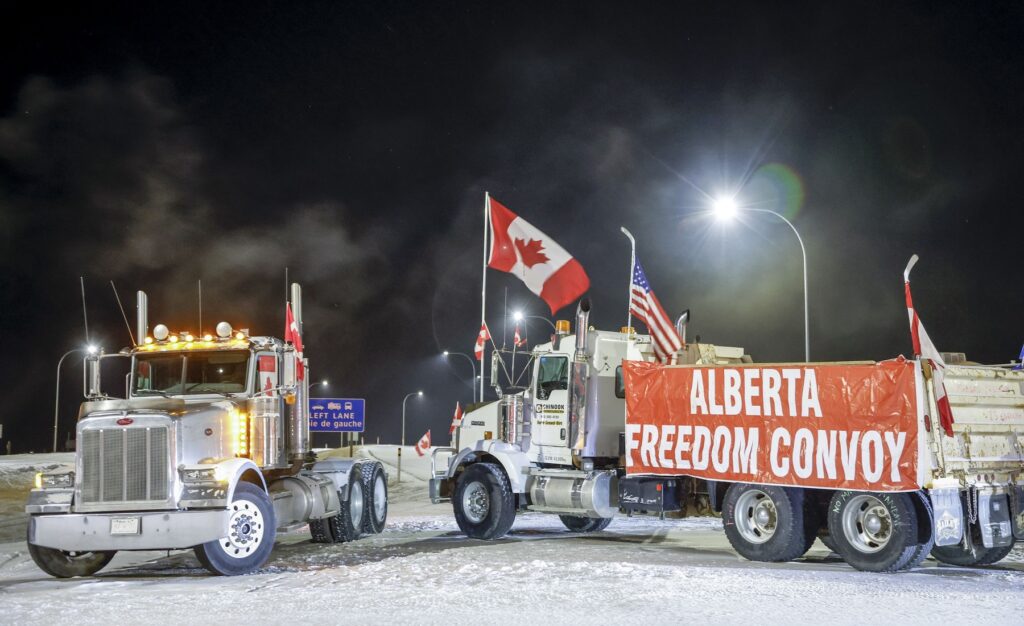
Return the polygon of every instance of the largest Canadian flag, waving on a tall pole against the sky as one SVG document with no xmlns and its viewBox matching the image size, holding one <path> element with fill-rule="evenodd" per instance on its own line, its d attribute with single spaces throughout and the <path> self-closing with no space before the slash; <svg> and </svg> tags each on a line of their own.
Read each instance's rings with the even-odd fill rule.
<svg viewBox="0 0 1024 626">
<path fill-rule="evenodd" d="M 490 258 L 487 266 L 508 272 L 551 307 L 552 315 L 588 289 L 590 279 L 564 248 L 489 196 Z"/>
</svg>

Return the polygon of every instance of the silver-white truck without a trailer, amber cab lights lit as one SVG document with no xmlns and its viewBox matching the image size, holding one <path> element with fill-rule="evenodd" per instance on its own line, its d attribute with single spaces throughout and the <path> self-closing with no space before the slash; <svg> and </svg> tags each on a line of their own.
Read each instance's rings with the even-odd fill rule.
<svg viewBox="0 0 1024 626">
<path fill-rule="evenodd" d="M 292 285 L 296 327 L 301 289 Z M 314 542 L 380 533 L 387 476 L 370 460 L 317 461 L 310 448 L 308 361 L 291 342 L 221 322 L 213 334 L 150 333 L 86 359 L 75 469 L 42 473 L 26 506 L 28 543 L 52 576 L 89 576 L 118 550 L 193 548 L 208 570 L 266 562 L 281 529 Z M 100 390 L 100 360 L 131 360 L 124 399 Z"/>
</svg>

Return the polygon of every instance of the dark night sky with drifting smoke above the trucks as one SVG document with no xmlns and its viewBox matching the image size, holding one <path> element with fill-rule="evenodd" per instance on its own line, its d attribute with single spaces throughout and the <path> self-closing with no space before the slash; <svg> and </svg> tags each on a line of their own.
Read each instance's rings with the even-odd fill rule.
<svg viewBox="0 0 1024 626">
<path fill-rule="evenodd" d="M 803 359 L 796 238 L 762 213 L 715 222 L 726 194 L 803 236 L 813 360 L 911 351 L 913 253 L 939 349 L 1018 356 L 1019 4 L 549 4 L 10 3 L 5 440 L 49 446 L 57 359 L 85 341 L 80 276 L 92 340 L 117 351 L 112 280 L 133 330 L 144 289 L 151 326 L 197 332 L 202 279 L 203 331 L 281 336 L 288 266 L 313 376 L 367 399 L 369 437 L 394 443 L 423 388 L 409 443 L 446 443 L 470 372 L 439 352 L 472 353 L 485 191 L 580 260 L 598 328 L 626 322 L 625 225 L 690 338 Z M 506 290 L 548 315 L 514 278 L 487 285 L 499 341 Z M 61 441 L 80 362 L 62 381 Z"/>
</svg>

